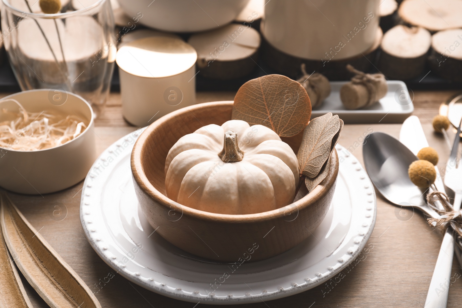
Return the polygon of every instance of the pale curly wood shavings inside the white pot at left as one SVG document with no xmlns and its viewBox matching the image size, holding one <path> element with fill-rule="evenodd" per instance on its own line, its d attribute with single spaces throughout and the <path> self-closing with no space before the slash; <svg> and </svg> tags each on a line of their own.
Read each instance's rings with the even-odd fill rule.
<svg viewBox="0 0 462 308">
<path fill-rule="evenodd" d="M 19 111 L 1 108 L 14 102 Z M 63 145 L 85 131 L 86 124 L 77 115 L 63 115 L 53 110 L 29 112 L 15 99 L 0 101 L 0 116 L 14 120 L 0 122 L 0 147 L 15 151 L 37 151 Z"/>
</svg>

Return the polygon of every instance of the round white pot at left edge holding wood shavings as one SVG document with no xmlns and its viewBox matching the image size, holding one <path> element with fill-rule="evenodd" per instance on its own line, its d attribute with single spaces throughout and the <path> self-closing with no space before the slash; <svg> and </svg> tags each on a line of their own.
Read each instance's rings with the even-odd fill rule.
<svg viewBox="0 0 462 308">
<path fill-rule="evenodd" d="M 87 128 L 75 139 L 54 148 L 38 151 L 0 148 L 0 186 L 15 193 L 44 194 L 71 187 L 83 180 L 96 159 L 90 104 L 78 95 L 49 89 L 19 92 L 2 100 L 7 98 L 17 100 L 31 112 L 55 110 L 77 114 Z M 0 121 L 3 121 L 1 116 Z"/>
</svg>

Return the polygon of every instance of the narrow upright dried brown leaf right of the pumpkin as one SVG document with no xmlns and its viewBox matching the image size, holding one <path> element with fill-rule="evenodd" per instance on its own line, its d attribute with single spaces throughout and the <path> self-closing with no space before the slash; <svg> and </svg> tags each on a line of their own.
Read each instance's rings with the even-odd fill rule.
<svg viewBox="0 0 462 308">
<path fill-rule="evenodd" d="M 333 141 L 336 143 L 340 136 L 339 120 L 338 115 L 329 112 L 314 118 L 305 128 L 297 155 L 302 175 L 312 179 L 319 174 L 333 150 Z"/>
</svg>

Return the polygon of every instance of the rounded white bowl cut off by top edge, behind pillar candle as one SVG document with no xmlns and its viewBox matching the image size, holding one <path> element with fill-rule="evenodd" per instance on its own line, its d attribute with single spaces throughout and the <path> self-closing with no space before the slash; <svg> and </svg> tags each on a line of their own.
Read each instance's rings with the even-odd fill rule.
<svg viewBox="0 0 462 308">
<path fill-rule="evenodd" d="M 249 2 L 249 0 L 118 1 L 127 15 L 138 16 L 141 24 L 172 32 L 196 32 L 223 26 L 234 20 Z"/>
</svg>

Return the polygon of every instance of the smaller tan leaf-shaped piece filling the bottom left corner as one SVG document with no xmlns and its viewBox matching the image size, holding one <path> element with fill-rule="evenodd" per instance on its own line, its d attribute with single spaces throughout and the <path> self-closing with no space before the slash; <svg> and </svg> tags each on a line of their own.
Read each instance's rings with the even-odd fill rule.
<svg viewBox="0 0 462 308">
<path fill-rule="evenodd" d="M 32 308 L 0 228 L 0 307 Z"/>
</svg>

